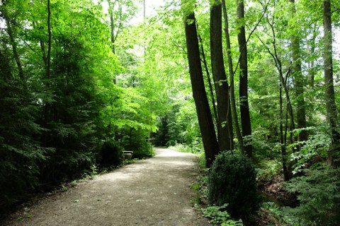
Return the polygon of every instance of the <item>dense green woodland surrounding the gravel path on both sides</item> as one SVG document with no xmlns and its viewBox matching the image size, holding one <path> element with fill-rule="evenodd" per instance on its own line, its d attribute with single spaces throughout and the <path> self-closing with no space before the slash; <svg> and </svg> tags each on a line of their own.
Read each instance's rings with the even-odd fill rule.
<svg viewBox="0 0 340 226">
<path fill-rule="evenodd" d="M 241 189 L 251 206 L 229 203 L 236 220 L 255 224 L 261 207 L 271 224 L 339 225 L 340 2 L 140 11 L 140 0 L 1 0 L 0 210 L 110 166 L 111 150 L 150 157 L 158 145 L 204 154 L 211 204 L 225 204 L 227 185 L 212 184 L 230 165 L 243 186 L 256 179 L 261 201 Z"/>
</svg>

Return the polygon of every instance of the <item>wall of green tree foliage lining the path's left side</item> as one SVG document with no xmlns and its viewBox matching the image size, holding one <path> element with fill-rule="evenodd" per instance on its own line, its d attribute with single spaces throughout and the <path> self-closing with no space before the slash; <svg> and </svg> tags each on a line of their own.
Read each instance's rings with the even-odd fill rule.
<svg viewBox="0 0 340 226">
<path fill-rule="evenodd" d="M 119 31 L 128 27 L 136 4 L 119 1 L 114 8 L 117 27 L 124 25 Z M 113 54 L 101 4 L 56 0 L 50 9 L 48 43 L 46 1 L 0 4 L 1 210 L 35 189 L 55 189 L 62 181 L 91 177 L 97 171 L 101 141 L 126 136 L 115 137 L 118 129 L 139 133 L 131 138 L 135 144 L 125 144 L 135 145 L 137 152 L 149 150 L 149 131 L 155 130 L 147 120 L 149 102 L 140 90 L 113 83 L 125 71 L 122 65 L 137 61 L 122 58 L 120 64 Z"/>
</svg>

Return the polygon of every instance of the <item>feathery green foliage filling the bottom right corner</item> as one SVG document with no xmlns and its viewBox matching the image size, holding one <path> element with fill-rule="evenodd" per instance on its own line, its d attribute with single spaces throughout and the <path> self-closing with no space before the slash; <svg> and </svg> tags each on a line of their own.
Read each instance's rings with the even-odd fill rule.
<svg viewBox="0 0 340 226">
<path fill-rule="evenodd" d="M 340 170 L 305 169 L 305 176 L 295 177 L 285 189 L 297 194 L 300 205 L 285 208 L 297 225 L 340 224 Z"/>
</svg>

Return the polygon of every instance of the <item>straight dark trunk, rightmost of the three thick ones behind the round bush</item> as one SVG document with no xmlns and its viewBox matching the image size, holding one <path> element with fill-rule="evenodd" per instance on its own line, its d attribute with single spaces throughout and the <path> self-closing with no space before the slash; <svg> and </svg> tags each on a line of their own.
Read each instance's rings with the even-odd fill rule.
<svg viewBox="0 0 340 226">
<path fill-rule="evenodd" d="M 239 109 L 241 112 L 242 135 L 248 136 L 249 141 L 245 143 L 246 156 L 252 157 L 253 146 L 251 145 L 251 121 L 248 102 L 248 59 L 246 49 L 246 31 L 244 29 L 244 3 L 243 0 L 237 0 L 237 18 L 242 21 L 239 27 L 237 39 L 239 41 L 239 53 L 241 54 L 239 61 Z"/>
</svg>

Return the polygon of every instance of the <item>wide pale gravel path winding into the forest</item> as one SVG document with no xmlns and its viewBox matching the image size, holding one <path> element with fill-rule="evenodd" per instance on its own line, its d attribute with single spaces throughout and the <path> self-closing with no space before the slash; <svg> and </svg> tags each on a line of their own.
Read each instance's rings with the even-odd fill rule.
<svg viewBox="0 0 340 226">
<path fill-rule="evenodd" d="M 156 149 L 148 160 L 121 167 L 51 196 L 8 225 L 209 225 L 192 208 L 195 155 Z"/>
</svg>

